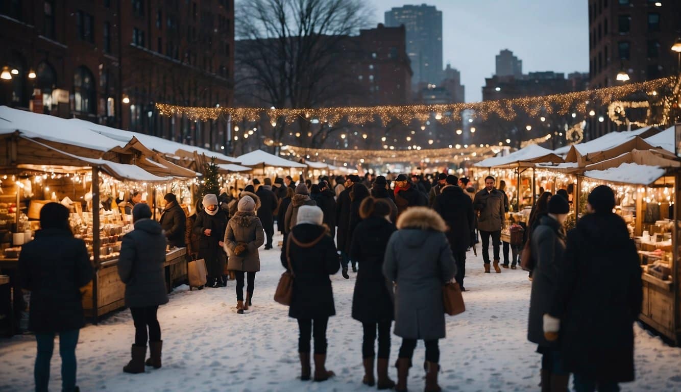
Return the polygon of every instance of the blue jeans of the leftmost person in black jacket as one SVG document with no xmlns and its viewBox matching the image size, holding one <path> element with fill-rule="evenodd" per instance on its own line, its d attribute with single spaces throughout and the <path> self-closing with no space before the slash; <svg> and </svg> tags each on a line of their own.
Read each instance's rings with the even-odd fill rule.
<svg viewBox="0 0 681 392">
<path fill-rule="evenodd" d="M 61 357 L 61 390 L 76 389 L 76 344 L 80 329 L 59 332 L 59 356 Z M 50 360 L 54 350 L 54 332 L 36 333 L 38 350 L 35 357 L 33 379 L 36 392 L 47 392 L 50 383 Z"/>
</svg>

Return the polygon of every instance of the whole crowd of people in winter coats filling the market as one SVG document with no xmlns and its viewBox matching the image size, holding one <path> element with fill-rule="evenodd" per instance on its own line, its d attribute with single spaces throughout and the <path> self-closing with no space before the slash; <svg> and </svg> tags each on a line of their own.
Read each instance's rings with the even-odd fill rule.
<svg viewBox="0 0 681 392">
<path fill-rule="evenodd" d="M 426 391 L 440 391 L 443 285 L 454 280 L 466 291 L 466 252 L 478 233 L 484 272 L 493 268 L 499 274 L 509 265 L 507 248 L 500 265 L 509 209 L 505 184 L 497 188 L 491 176 L 484 183 L 476 192 L 469 179 L 447 174 L 437 174 L 432 184 L 405 174 L 390 180 L 370 174 L 321 177 L 316 184 L 296 184 L 290 176 L 274 182 L 265 178 L 264 184 L 253 179 L 236 197 L 205 195 L 189 216 L 168 193 L 159 221 L 152 219 L 148 204 L 131 195 L 134 229 L 123 237 L 118 274 L 135 336 L 123 371 L 161 367 L 157 310 L 168 303 L 162 267 L 166 246 L 186 246 L 189 259 L 204 259 L 206 287 L 225 287 L 234 278 L 236 311 L 244 314 L 253 306 L 259 248 L 274 248 L 276 221 L 283 233 L 281 264 L 294 276 L 289 316 L 298 321 L 300 379 L 334 376 L 326 368 L 326 329 L 336 314 L 330 276 L 340 271 L 349 279 L 351 267 L 357 273 L 352 317 L 364 331 L 362 382 L 407 391 L 413 352 L 423 340 Z M 528 340 L 542 355 L 541 390 L 567 391 L 573 374 L 576 391 L 617 391 L 618 382 L 634 377 L 632 324 L 642 303 L 639 261 L 624 221 L 612 212 L 612 189 L 599 186 L 590 193 L 589 214 L 569 233 L 563 228 L 570 210 L 566 196 L 565 191 L 539 196 L 523 255 L 532 261 Z M 46 204 L 40 212 L 42 229 L 20 254 L 22 287 L 31 291 L 29 328 L 37 340 L 36 391 L 47 390 L 55 333 L 63 391 L 78 390 L 75 348 L 84 325 L 79 289 L 92 279 L 93 268 L 68 218 L 61 204 Z M 513 252 L 511 267 L 517 259 Z M 393 322 L 394 334 L 402 338 L 396 381 L 389 376 Z"/>
</svg>

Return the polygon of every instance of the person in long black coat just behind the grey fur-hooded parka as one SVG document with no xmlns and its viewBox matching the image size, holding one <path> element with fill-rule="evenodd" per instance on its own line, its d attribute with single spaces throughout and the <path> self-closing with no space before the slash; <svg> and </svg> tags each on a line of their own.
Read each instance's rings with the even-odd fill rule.
<svg viewBox="0 0 681 392">
<path fill-rule="evenodd" d="M 475 213 L 473 201 L 464 193 L 458 184 L 456 176 L 447 176 L 447 185 L 440 195 L 435 197 L 433 208 L 447 223 L 447 240 L 452 247 L 452 254 L 456 260 L 456 282 L 464 288 L 466 276 L 466 250 L 475 240 Z"/>
</svg>

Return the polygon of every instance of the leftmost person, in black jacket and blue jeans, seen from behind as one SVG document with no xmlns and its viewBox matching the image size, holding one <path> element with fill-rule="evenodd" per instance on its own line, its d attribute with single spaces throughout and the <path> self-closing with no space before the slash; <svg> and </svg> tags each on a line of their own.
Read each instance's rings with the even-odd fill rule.
<svg viewBox="0 0 681 392">
<path fill-rule="evenodd" d="M 69 210 L 59 203 L 47 203 L 40 210 L 40 227 L 35 240 L 22 246 L 19 282 L 31 291 L 29 330 L 35 333 L 35 390 L 47 391 L 54 335 L 59 334 L 61 386 L 76 390 L 76 344 L 84 327 L 80 287 L 93 278 L 93 268 L 83 240 L 74 238 L 69 227 Z"/>
</svg>

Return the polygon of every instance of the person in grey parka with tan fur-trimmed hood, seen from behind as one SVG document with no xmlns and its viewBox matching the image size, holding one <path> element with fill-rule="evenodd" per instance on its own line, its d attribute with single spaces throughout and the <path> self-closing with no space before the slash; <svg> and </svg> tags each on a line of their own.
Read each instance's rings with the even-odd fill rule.
<svg viewBox="0 0 681 392">
<path fill-rule="evenodd" d="M 412 207 L 397 220 L 385 249 L 383 275 L 396 283 L 395 335 L 402 337 L 396 363 L 397 391 L 407 390 L 407 376 L 417 340 L 426 344 L 426 391 L 439 391 L 440 350 L 445 338 L 442 288 L 454 278 L 456 265 L 440 215 L 425 207 Z"/>
</svg>

